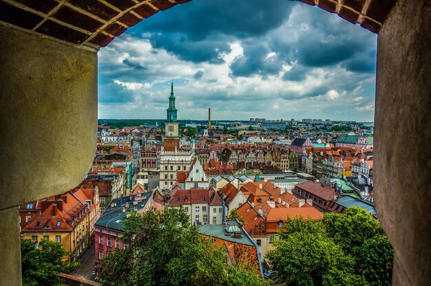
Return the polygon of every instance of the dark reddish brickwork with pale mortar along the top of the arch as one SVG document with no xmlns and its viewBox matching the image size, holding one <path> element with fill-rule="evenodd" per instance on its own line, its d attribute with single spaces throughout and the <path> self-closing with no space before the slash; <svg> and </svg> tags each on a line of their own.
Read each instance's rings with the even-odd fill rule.
<svg viewBox="0 0 431 286">
<path fill-rule="evenodd" d="M 96 49 L 159 11 L 191 0 L 0 0 L 0 21 Z M 288 0 L 286 0 L 288 1 Z M 397 0 L 295 0 L 378 33 Z M 262 5 L 264 0 L 262 0 Z"/>
</svg>

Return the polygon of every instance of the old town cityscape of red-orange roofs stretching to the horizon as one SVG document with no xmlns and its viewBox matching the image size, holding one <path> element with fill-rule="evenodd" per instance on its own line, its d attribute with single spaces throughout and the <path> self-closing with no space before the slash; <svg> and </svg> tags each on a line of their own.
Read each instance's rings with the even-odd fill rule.
<svg viewBox="0 0 431 286">
<path fill-rule="evenodd" d="M 346 216 L 352 208 L 368 214 L 381 232 L 373 198 L 373 122 L 213 121 L 208 109 L 207 120 L 198 123 L 178 120 L 176 100 L 171 83 L 163 123 L 99 120 L 85 180 L 19 206 L 21 238 L 61 243 L 63 260 L 80 262 L 71 276 L 106 282 L 98 280 L 106 279 L 104 259 L 131 243 L 125 221 L 178 210 L 200 236 L 221 246 L 227 265 L 277 281 L 271 255 L 292 220 L 325 221 L 328 213 Z M 390 281 L 388 274 L 390 268 L 369 284 Z"/>
</svg>

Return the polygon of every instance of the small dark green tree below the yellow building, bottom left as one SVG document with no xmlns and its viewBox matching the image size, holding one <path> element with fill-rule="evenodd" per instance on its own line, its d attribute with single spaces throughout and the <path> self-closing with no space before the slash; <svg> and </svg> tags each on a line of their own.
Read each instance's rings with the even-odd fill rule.
<svg viewBox="0 0 431 286">
<path fill-rule="evenodd" d="M 61 243 L 42 240 L 36 248 L 30 239 L 21 240 L 23 285 L 62 285 L 60 272 L 70 273 L 80 264 L 62 261 L 67 251 Z"/>
</svg>

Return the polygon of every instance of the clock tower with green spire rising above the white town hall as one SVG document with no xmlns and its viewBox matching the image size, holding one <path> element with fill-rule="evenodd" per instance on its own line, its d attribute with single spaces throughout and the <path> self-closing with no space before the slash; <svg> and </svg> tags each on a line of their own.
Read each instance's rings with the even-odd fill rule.
<svg viewBox="0 0 431 286">
<path fill-rule="evenodd" d="M 178 136 L 177 109 L 175 107 L 174 83 L 171 83 L 171 96 L 169 96 L 169 107 L 166 109 L 165 138 L 163 138 L 163 149 L 165 151 L 176 151 L 180 148 Z"/>
</svg>

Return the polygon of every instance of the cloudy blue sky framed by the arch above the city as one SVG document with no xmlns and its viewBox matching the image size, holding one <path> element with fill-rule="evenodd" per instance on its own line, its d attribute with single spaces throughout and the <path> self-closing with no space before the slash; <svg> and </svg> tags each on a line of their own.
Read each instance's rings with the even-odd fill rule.
<svg viewBox="0 0 431 286">
<path fill-rule="evenodd" d="M 297 1 L 193 0 L 98 52 L 98 118 L 373 121 L 377 35 Z"/>
</svg>

